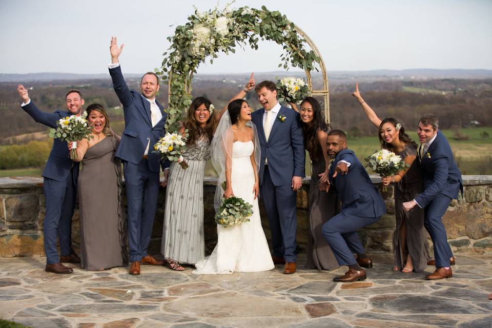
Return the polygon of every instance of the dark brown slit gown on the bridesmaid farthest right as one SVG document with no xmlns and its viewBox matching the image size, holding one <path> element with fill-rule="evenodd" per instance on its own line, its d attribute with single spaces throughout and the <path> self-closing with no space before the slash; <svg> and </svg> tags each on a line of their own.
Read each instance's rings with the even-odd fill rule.
<svg viewBox="0 0 492 328">
<path fill-rule="evenodd" d="M 417 156 L 414 145 L 406 145 L 405 149 L 398 155 L 404 159 L 406 156 Z M 403 210 L 403 202 L 413 200 L 424 190 L 423 175 L 419 160 L 416 158 L 408 169 L 402 180 L 395 183 L 395 216 L 396 229 L 393 234 L 393 253 L 395 255 L 395 266 L 403 269 L 407 254 L 412 258 L 415 272 L 424 271 L 427 260 L 430 259 L 427 242 L 427 231 L 424 228 L 424 210 L 415 206 L 410 211 Z M 406 248 L 402 247 L 402 229 L 406 229 L 404 238 Z"/>
</svg>

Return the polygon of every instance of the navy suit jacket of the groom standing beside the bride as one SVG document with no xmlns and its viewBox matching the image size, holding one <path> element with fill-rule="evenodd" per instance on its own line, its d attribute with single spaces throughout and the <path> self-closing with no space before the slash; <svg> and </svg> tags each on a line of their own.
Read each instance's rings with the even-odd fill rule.
<svg viewBox="0 0 492 328">
<path fill-rule="evenodd" d="M 306 153 L 300 115 L 292 109 L 281 106 L 267 141 L 263 129 L 264 113 L 264 108 L 251 113 L 261 146 L 260 185 L 263 183 L 266 158 L 268 158 L 268 170 L 273 184 L 275 186 L 290 185 L 293 176 L 304 177 L 305 174 Z M 280 115 L 285 116 L 284 122 L 280 121 L 278 117 Z"/>
</svg>

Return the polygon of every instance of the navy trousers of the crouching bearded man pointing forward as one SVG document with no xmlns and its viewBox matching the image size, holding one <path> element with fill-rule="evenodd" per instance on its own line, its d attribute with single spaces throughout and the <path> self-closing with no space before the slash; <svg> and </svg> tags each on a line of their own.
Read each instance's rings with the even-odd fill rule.
<svg viewBox="0 0 492 328">
<path fill-rule="evenodd" d="M 357 261 L 354 254 L 365 254 L 356 231 L 380 218 L 380 216 L 366 218 L 340 212 L 323 224 L 321 232 L 330 245 L 338 265 L 355 264 Z"/>
</svg>

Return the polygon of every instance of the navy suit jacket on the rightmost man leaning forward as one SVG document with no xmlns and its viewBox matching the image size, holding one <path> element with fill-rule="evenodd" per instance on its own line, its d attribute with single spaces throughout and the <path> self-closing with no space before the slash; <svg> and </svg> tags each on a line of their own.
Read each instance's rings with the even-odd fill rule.
<svg viewBox="0 0 492 328">
<path fill-rule="evenodd" d="M 439 194 L 457 199 L 459 191 L 463 192 L 461 172 L 441 131 L 437 131 L 436 139 L 423 154 L 420 166 L 424 173 L 424 191 L 415 198 L 420 207 L 427 206 Z"/>
</svg>

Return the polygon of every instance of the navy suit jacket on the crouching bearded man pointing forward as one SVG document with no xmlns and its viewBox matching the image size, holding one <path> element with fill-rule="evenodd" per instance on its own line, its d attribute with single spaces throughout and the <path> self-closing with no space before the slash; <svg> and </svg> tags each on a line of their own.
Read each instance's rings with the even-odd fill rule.
<svg viewBox="0 0 492 328">
<path fill-rule="evenodd" d="M 350 163 L 348 173 L 338 173 L 333 178 L 335 167 L 340 160 Z M 335 187 L 339 199 L 342 200 L 340 212 L 367 218 L 379 217 L 386 213 L 383 198 L 352 150 L 344 149 L 337 154 L 330 168 L 330 183 L 330 188 Z"/>
</svg>

